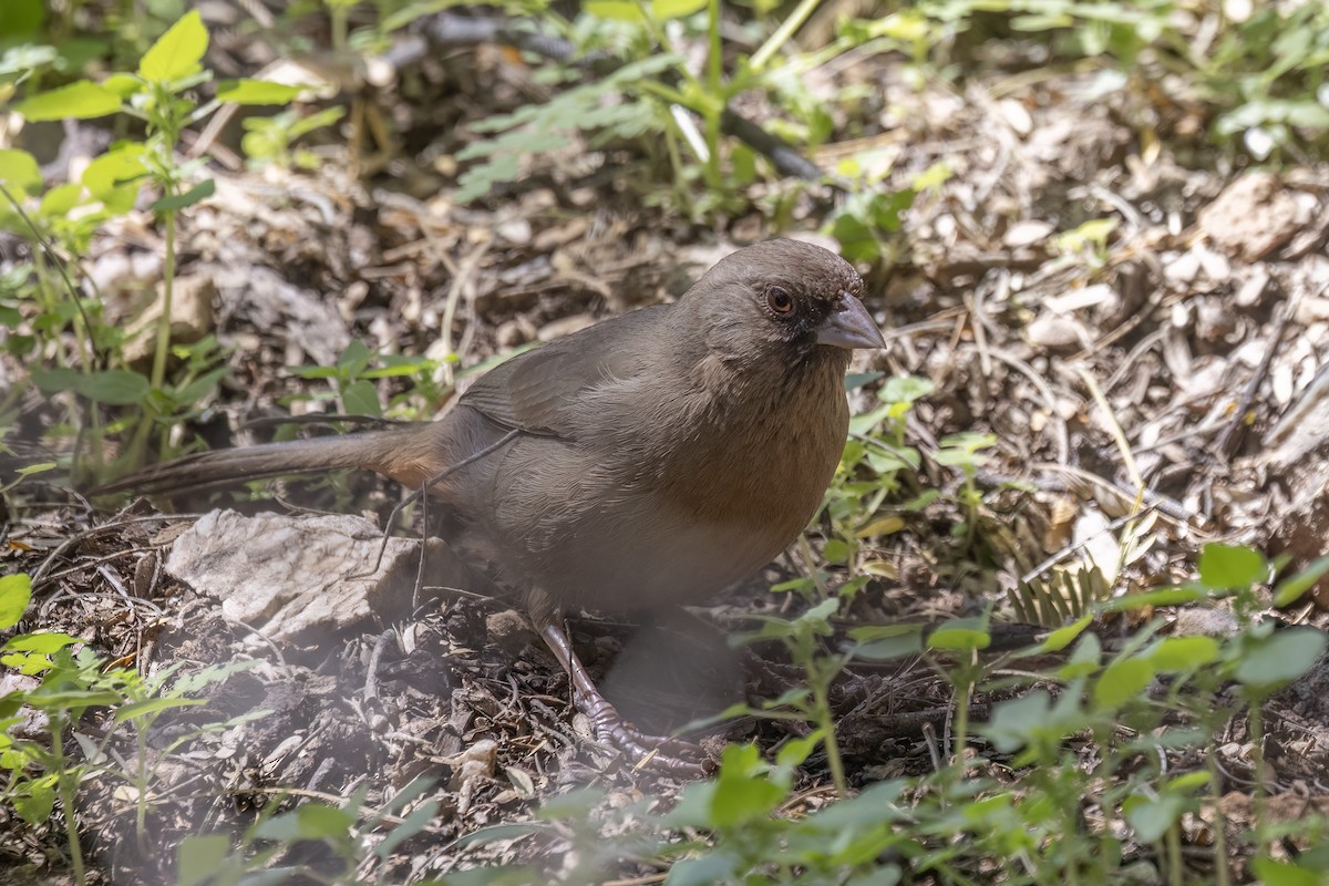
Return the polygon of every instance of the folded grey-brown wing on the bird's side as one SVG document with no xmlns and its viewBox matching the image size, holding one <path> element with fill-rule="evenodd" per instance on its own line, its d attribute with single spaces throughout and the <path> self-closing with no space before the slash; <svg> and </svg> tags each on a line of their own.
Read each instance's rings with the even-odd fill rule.
<svg viewBox="0 0 1329 886">
<path fill-rule="evenodd" d="M 571 440 L 569 406 L 593 388 L 643 372 L 666 311 L 633 311 L 518 355 L 485 373 L 459 404 L 505 428 Z"/>
</svg>

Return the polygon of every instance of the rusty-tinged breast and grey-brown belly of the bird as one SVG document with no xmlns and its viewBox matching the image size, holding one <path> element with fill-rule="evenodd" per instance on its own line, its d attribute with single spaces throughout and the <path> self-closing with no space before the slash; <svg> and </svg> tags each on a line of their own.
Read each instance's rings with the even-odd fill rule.
<svg viewBox="0 0 1329 886">
<path fill-rule="evenodd" d="M 485 531 L 502 571 L 565 606 L 691 603 L 755 574 L 816 513 L 849 420 L 843 367 L 694 388 L 631 421 L 611 406 L 599 433 L 521 437 L 496 462 Z"/>
</svg>

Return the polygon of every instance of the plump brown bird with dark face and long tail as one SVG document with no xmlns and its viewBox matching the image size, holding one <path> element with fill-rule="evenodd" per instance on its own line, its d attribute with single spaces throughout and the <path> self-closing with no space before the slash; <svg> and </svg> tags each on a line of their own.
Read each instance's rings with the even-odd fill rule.
<svg viewBox="0 0 1329 886">
<path fill-rule="evenodd" d="M 444 538 L 517 595 L 566 668 L 597 739 L 641 760 L 638 733 L 573 652 L 566 607 L 692 603 L 769 563 L 821 503 L 844 448 L 844 373 L 880 348 L 840 256 L 750 246 L 676 303 L 513 357 L 439 421 L 207 452 L 104 491 L 170 493 L 367 468 L 429 485 Z M 433 505 L 435 507 L 437 505 Z"/>
</svg>

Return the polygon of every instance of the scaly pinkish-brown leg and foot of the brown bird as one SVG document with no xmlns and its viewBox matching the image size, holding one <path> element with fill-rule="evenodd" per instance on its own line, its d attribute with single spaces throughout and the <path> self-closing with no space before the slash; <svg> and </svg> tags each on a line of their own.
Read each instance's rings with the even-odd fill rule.
<svg viewBox="0 0 1329 886">
<path fill-rule="evenodd" d="M 662 769 L 686 778 L 700 778 L 707 773 L 707 768 L 700 762 L 704 754 L 702 748 L 676 739 L 649 736 L 623 721 L 609 699 L 595 687 L 595 681 L 586 672 L 586 665 L 577 658 L 571 639 L 557 614 L 533 612 L 532 618 L 540 638 L 567 672 L 573 687 L 573 704 L 590 717 L 597 741 L 618 748 L 634 765 Z"/>
</svg>

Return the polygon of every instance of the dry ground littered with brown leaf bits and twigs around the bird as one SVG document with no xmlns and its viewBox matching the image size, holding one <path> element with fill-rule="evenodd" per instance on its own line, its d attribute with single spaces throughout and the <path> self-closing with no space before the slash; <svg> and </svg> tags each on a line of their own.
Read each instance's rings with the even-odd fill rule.
<svg viewBox="0 0 1329 886">
<path fill-rule="evenodd" d="M 243 58 L 242 48 L 218 45 Z M 371 352 L 456 355 L 459 367 L 472 367 L 675 298 L 716 256 L 777 232 L 756 210 L 707 228 L 650 209 L 627 153 L 585 146 L 540 162 L 490 199 L 455 205 L 445 165 L 421 161 L 431 134 L 521 104 L 532 73 L 490 48 L 429 60 L 419 94 L 379 97 L 400 143 L 368 178 L 351 174 L 344 143 L 324 149 L 312 173 L 218 166 L 215 197 L 183 223 L 179 272 L 185 291 L 198 294 L 201 328 L 234 349 L 230 376 L 193 433 L 230 445 L 271 433 L 235 430 L 255 420 L 335 412 L 326 397 L 292 401 L 326 385 L 287 368 L 331 364 L 351 340 Z M 997 72 L 964 88 L 918 86 L 898 60 L 864 58 L 809 82 L 825 94 L 863 84 L 876 102 L 872 125 L 852 145 L 833 142 L 811 157 L 823 167 L 870 149 L 881 189 L 906 187 L 942 161 L 949 169 L 905 214 L 889 267 L 864 268 L 865 302 L 892 347 L 860 357 L 855 369 L 936 385 L 909 424 L 910 442 L 925 453 L 949 433 L 997 438 L 978 478 L 989 493 L 983 518 L 995 566 L 957 554 L 953 505 L 901 511 L 900 531 L 869 542 L 889 569 L 856 598 L 853 623 L 936 622 L 991 600 L 1005 607 L 1023 573 L 1054 557 L 1062 566 L 1084 562 L 1086 550 L 1098 562 L 1126 562 L 1119 588 L 1188 578 L 1207 541 L 1288 553 L 1298 563 L 1322 553 L 1329 167 L 1290 163 L 1280 175 L 1232 167 L 1195 135 L 1196 108 L 1148 92 L 1102 94 L 1092 73 Z M 792 232 L 815 231 L 836 199 L 843 195 L 801 191 Z M 1116 222 L 1102 240 L 1066 236 L 1100 218 Z M 148 222 L 145 213 L 106 231 L 85 256 L 113 308 L 129 311 L 134 292 L 159 279 L 162 244 Z M 7 365 L 0 375 L 21 372 Z M 381 384 L 404 389 L 400 380 Z M 870 397 L 872 388 L 856 392 L 856 409 Z M 36 441 L 54 412 L 28 406 Z M 1099 530 L 1131 513 L 1132 474 L 1147 484 L 1154 510 L 1119 557 L 1115 534 Z M 961 478 L 926 464 L 920 482 L 954 490 Z M 291 482 L 276 484 L 264 502 L 213 501 L 249 514 L 312 507 L 381 518 L 400 497 L 372 478 L 347 484 L 350 493 Z M 58 484 L 27 482 L 15 501 L 4 515 L 4 571 L 35 576 L 35 614 L 21 627 L 84 636 L 145 672 L 255 663 L 209 705 L 165 719 L 158 747 L 191 724 L 271 712 L 162 758 L 145 845 L 133 837 L 134 804 L 120 785 L 85 785 L 81 821 L 105 882 L 171 882 L 173 853 L 161 847 L 186 834 L 238 834 L 268 804 L 363 788 L 376 808 L 417 776 L 436 780 L 431 796 L 445 814 L 397 847 L 384 869 L 389 879 L 532 858 L 557 873 L 569 843 L 556 832 L 459 841 L 526 821 L 571 786 L 603 789 L 610 806 L 667 802 L 678 790 L 676 781 L 633 772 L 587 740 L 557 663 L 502 602 L 433 590 L 415 604 L 405 599 L 375 618 L 276 643 L 163 570 L 189 515 L 149 518 L 154 511 L 142 502 L 93 507 Z M 218 506 L 191 505 L 199 513 Z M 797 611 L 795 596 L 768 588 L 809 567 L 827 571 L 832 586 L 848 578 L 820 565 L 815 550 L 796 550 L 696 618 L 645 626 L 613 614 L 578 618 L 578 650 L 647 727 L 772 697 L 797 676 L 779 651 L 742 655 L 723 639 L 752 614 Z M 1329 590 L 1273 616 L 1322 628 L 1321 604 Z M 1224 618 L 1170 614 L 1170 630 L 1221 631 Z M 676 675 L 687 687 L 682 701 L 695 704 L 679 704 L 662 673 Z M 1275 816 L 1322 809 L 1329 797 L 1326 681 L 1320 669 L 1267 711 Z M 934 739 L 924 724 L 944 729 L 954 699 L 936 671 L 910 662 L 851 667 L 833 703 L 851 782 L 861 785 L 928 772 Z M 90 720 L 81 727 L 90 733 L 105 725 Z M 715 736 L 771 748 L 788 729 L 747 720 Z M 1220 754 L 1231 778 L 1227 812 L 1240 824 L 1249 816 L 1252 765 L 1239 724 Z M 279 798 L 288 788 L 298 796 Z M 809 806 L 829 797 L 824 758 L 805 768 L 800 794 Z M 33 829 L 4 814 L 0 865 L 27 877 L 15 873 L 12 882 L 51 882 L 66 870 L 53 822 Z M 625 855 L 605 877 L 650 882 L 631 878 L 657 873 Z"/>
</svg>

